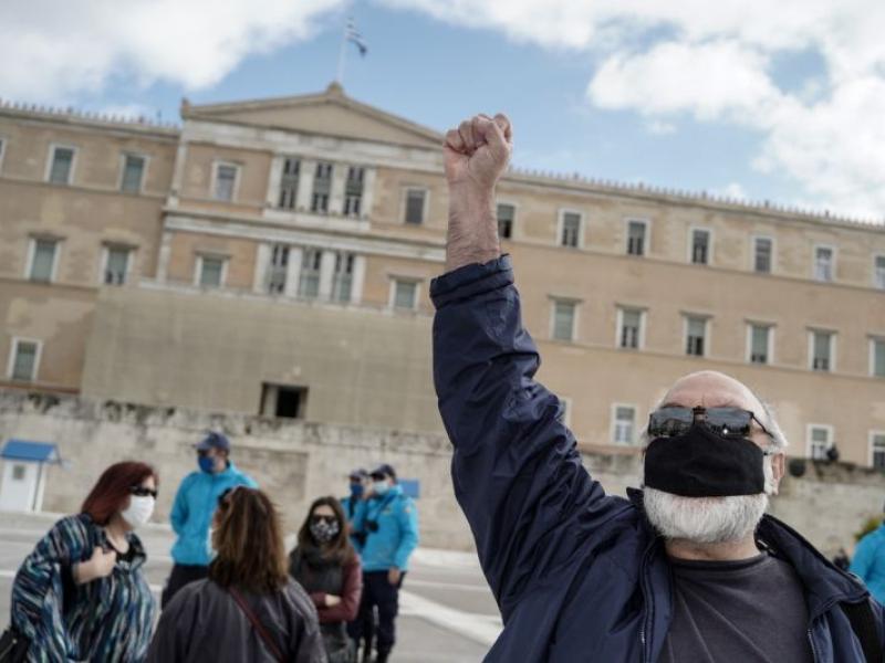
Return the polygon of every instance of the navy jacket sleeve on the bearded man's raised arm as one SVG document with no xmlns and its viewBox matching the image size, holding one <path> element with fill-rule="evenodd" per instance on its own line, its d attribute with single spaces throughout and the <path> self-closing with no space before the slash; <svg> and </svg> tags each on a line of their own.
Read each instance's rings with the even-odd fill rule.
<svg viewBox="0 0 885 663">
<path fill-rule="evenodd" d="M 533 379 L 540 358 L 522 327 L 510 257 L 444 274 L 430 295 L 455 495 L 507 619 L 533 582 L 576 549 L 601 546 L 600 528 L 631 507 L 590 477 L 559 399 Z"/>
</svg>

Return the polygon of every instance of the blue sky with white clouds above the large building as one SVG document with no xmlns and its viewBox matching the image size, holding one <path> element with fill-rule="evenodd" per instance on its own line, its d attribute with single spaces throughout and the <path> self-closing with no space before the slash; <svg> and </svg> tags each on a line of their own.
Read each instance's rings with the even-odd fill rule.
<svg viewBox="0 0 885 663">
<path fill-rule="evenodd" d="M 863 39 L 873 20 L 866 10 L 885 3 L 855 0 L 855 32 L 833 42 L 826 21 L 851 25 L 854 14 L 809 1 L 820 15 L 802 23 L 790 13 L 796 8 L 771 14 L 756 0 L 723 0 L 733 4 L 731 22 L 697 18 L 689 7 L 696 0 L 639 9 L 623 0 L 624 9 L 607 13 L 583 0 L 550 0 L 544 14 L 529 0 L 298 0 L 311 6 L 298 10 L 289 0 L 256 0 L 243 4 L 246 13 L 214 22 L 204 11 L 211 3 L 179 0 L 194 4 L 190 15 L 202 24 L 195 18 L 192 36 L 164 36 L 164 21 L 173 19 L 157 14 L 163 2 L 127 0 L 137 24 L 126 24 L 125 11 L 111 13 L 113 3 L 105 20 L 135 36 L 116 46 L 112 40 L 103 53 L 93 46 L 102 35 L 88 34 L 95 17 L 88 25 L 84 19 L 84 39 L 70 44 L 71 53 L 93 59 L 81 70 L 69 71 L 69 56 L 53 72 L 49 55 L 33 55 L 33 40 L 0 45 L 0 55 L 18 49 L 14 55 L 33 56 L 48 78 L 60 77 L 41 87 L 0 73 L 0 97 L 177 120 L 183 96 L 205 103 L 317 92 L 334 78 L 352 15 L 369 51 L 360 57 L 348 50 L 347 94 L 439 130 L 477 112 L 503 110 L 516 127 L 518 166 L 884 218 L 885 161 L 866 146 L 885 139 L 872 117 L 885 106 L 867 98 L 885 91 L 885 48 Z M 283 24 L 248 13 L 250 6 L 262 11 L 261 3 Z M 754 4 L 774 29 L 753 18 Z M 44 17 L 10 18 L 58 43 Z M 188 14 L 178 20 L 186 25 Z M 792 32 L 784 36 L 779 20 L 791 21 Z M 152 24 L 157 34 L 146 32 Z M 218 39 L 206 35 L 214 28 Z M 854 129 L 868 135 L 850 138 Z"/>
</svg>

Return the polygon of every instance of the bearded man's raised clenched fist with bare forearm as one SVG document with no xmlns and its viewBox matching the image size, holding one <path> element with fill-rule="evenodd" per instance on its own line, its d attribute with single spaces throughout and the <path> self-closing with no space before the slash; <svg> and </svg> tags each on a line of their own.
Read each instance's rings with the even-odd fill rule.
<svg viewBox="0 0 885 663">
<path fill-rule="evenodd" d="M 446 134 L 449 230 L 446 271 L 494 260 L 501 253 L 494 185 L 513 150 L 510 120 L 476 115 Z"/>
</svg>

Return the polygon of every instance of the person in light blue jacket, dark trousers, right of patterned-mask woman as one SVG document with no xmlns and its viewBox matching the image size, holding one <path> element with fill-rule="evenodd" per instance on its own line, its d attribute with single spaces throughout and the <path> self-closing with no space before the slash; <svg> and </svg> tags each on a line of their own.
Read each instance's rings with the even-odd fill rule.
<svg viewBox="0 0 885 663">
<path fill-rule="evenodd" d="M 351 622 L 350 634 L 357 644 L 364 640 L 363 661 L 372 656 L 372 632 L 375 627 L 377 656 L 375 663 L 386 663 L 396 642 L 396 614 L 399 610 L 399 588 L 408 571 L 408 559 L 418 545 L 418 509 L 412 497 L 403 494 L 396 472 L 383 464 L 371 473 L 372 492 L 356 512 L 354 534 L 363 560 L 363 597 L 360 614 Z"/>
</svg>

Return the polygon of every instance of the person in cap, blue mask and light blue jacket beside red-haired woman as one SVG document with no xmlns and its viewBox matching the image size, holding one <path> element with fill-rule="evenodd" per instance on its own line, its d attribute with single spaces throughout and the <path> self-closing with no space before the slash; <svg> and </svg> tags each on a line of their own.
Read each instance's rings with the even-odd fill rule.
<svg viewBox="0 0 885 663">
<path fill-rule="evenodd" d="M 219 497 L 233 486 L 258 487 L 231 462 L 230 440 L 223 434 L 210 432 L 194 449 L 199 470 L 181 481 L 169 515 L 177 538 L 171 551 L 175 564 L 160 598 L 163 608 L 185 585 L 208 577 L 211 561 L 209 525 Z"/>
</svg>

